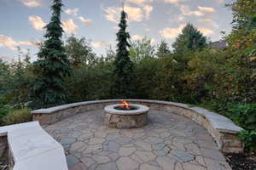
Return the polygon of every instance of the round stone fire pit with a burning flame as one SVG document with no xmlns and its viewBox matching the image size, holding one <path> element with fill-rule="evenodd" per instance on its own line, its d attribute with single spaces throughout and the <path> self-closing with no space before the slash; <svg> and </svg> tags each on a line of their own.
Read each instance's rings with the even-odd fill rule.
<svg viewBox="0 0 256 170">
<path fill-rule="evenodd" d="M 108 127 L 139 128 L 148 123 L 149 108 L 145 105 L 128 104 L 108 105 L 104 108 L 104 122 Z"/>
</svg>

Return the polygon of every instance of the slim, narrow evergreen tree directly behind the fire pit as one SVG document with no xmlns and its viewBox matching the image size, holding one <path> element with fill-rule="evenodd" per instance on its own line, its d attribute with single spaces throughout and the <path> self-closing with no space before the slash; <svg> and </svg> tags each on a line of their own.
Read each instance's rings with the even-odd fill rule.
<svg viewBox="0 0 256 170">
<path fill-rule="evenodd" d="M 113 62 L 114 84 L 112 91 L 113 95 L 118 98 L 131 98 L 135 89 L 134 65 L 128 51 L 128 48 L 131 47 L 128 42 L 130 34 L 126 32 L 126 27 L 126 13 L 123 10 L 117 33 L 117 54 Z"/>
</svg>

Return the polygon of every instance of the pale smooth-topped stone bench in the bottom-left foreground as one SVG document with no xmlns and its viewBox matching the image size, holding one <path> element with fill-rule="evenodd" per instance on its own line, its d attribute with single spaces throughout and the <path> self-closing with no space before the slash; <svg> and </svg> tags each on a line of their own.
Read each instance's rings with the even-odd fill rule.
<svg viewBox="0 0 256 170">
<path fill-rule="evenodd" d="M 38 122 L 0 127 L 0 138 L 8 141 L 8 146 L 0 148 L 0 153 L 1 149 L 9 147 L 10 169 L 67 170 L 63 147 Z M 6 141 L 2 145 L 4 143 Z"/>
</svg>

